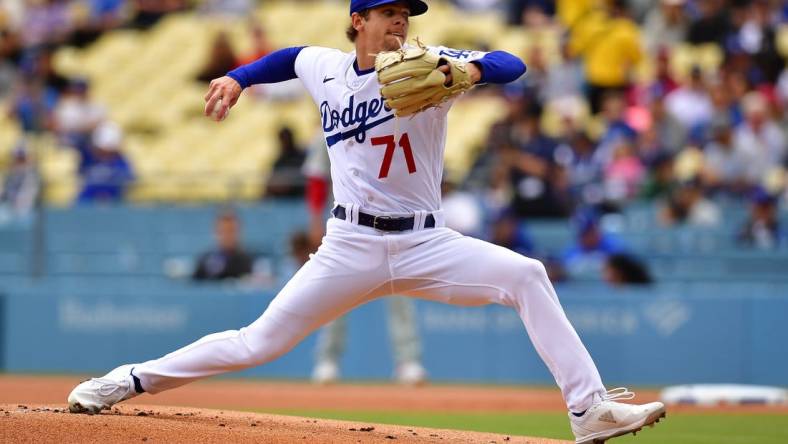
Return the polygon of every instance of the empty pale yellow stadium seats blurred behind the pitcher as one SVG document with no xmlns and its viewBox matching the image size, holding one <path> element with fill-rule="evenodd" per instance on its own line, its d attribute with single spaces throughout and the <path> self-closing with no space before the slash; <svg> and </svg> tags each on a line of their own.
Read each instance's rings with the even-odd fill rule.
<svg viewBox="0 0 788 444">
<path fill-rule="evenodd" d="M 429 22 L 414 20 L 412 25 L 411 35 L 425 42 L 504 49 L 526 62 L 535 47 L 542 49 L 548 63 L 560 57 L 557 28 L 507 27 L 492 12 L 469 15 L 448 2 L 434 2 L 431 7 Z M 311 43 L 351 49 L 344 37 L 347 13 L 341 3 L 264 2 L 255 18 L 277 47 Z M 257 199 L 277 155 L 278 128 L 284 124 L 293 127 L 304 142 L 318 130 L 320 116 L 305 94 L 291 101 L 246 94 L 232 117 L 221 125 L 202 116 L 205 85 L 194 77 L 219 30 L 230 34 L 239 54 L 248 51 L 246 21 L 217 20 L 190 12 L 169 16 L 147 32 L 117 30 L 86 49 L 63 48 L 57 53 L 56 67 L 67 75 L 89 77 L 93 97 L 109 108 L 112 119 L 126 131 L 124 149 L 138 173 L 132 201 Z M 786 32 L 781 28 L 780 35 L 788 36 Z M 783 49 L 785 41 L 780 39 Z M 652 75 L 649 63 L 644 61 L 639 70 L 643 76 Z M 721 63 L 719 48 L 676 48 L 671 60 L 676 73 L 689 72 L 695 63 L 705 70 L 716 70 Z M 456 108 L 451 114 L 446 157 L 450 174 L 461 178 L 476 158 L 490 125 L 506 108 L 501 98 L 485 94 L 461 99 Z M 546 131 L 555 133 L 559 120 L 557 110 L 547 109 L 543 120 Z M 7 118 L 0 118 L 0 158 L 7 157 L 18 137 L 19 129 Z M 43 137 L 36 145 L 49 183 L 47 201 L 70 203 L 79 187 L 77 157 L 52 138 Z"/>
</svg>

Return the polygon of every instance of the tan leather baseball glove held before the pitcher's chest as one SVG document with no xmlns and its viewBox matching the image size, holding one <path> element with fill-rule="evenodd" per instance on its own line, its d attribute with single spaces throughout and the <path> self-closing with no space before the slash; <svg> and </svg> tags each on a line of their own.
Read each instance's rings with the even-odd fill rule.
<svg viewBox="0 0 788 444">
<path fill-rule="evenodd" d="M 451 84 L 438 68 L 451 69 Z M 430 53 L 416 40 L 415 47 L 381 52 L 375 57 L 380 94 L 399 117 L 410 116 L 473 88 L 466 63 Z"/>
</svg>

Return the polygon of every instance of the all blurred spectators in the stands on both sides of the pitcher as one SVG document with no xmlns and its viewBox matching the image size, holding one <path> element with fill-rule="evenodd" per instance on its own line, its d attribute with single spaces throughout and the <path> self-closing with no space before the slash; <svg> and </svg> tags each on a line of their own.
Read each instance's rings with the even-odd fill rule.
<svg viewBox="0 0 788 444">
<path fill-rule="evenodd" d="M 505 98 L 507 115 L 452 190 L 482 196 L 486 225 L 474 228 L 523 253 L 518 227 L 532 218 L 569 220 L 578 257 L 602 253 L 631 280 L 647 281 L 625 246 L 599 228 L 609 213 L 653 202 L 664 226 L 717 227 L 720 199 L 750 207 L 737 239 L 786 245 L 780 225 L 788 162 L 788 4 L 779 0 L 452 0 L 468 11 L 499 11 L 513 27 L 559 36 L 559 51 L 528 45 L 528 74 L 476 94 Z M 79 201 L 119 200 L 134 180 L 122 132 L 90 96 L 89 79 L 52 64 L 61 45 L 90 45 L 116 28 L 146 29 L 165 14 L 197 8 L 245 17 L 253 0 L 4 0 L 0 5 L 0 103 L 26 133 L 52 133 L 80 155 Z M 781 32 L 782 30 L 782 32 Z M 253 50 L 233 52 L 219 34 L 197 79 L 209 81 L 269 53 L 251 27 Z M 681 60 L 679 60 L 681 59 Z M 712 60 L 712 62 L 709 62 Z M 264 194 L 303 194 L 303 149 L 279 134 L 282 155 Z M 3 159 L 0 198 L 30 205 L 40 188 L 25 143 Z M 293 185 L 295 184 L 295 185 Z M 24 191 L 22 191 L 24 190 Z M 448 200 L 448 199 L 447 199 Z M 468 211 L 465 205 L 464 211 Z M 615 260 L 613 260 L 613 259 Z M 623 259 L 622 259 L 623 258 Z M 622 265 L 623 264 L 623 265 Z M 615 264 L 614 264 L 615 265 Z M 611 268 L 612 270 L 612 268 Z M 634 271 L 633 271 L 634 270 Z M 643 270 L 641 270 L 643 271 Z M 618 272 L 621 274 L 621 272 Z M 611 272 L 611 276 L 619 274 Z M 611 279 L 622 279 L 614 278 Z M 629 278 L 627 278 L 629 279 Z"/>
</svg>

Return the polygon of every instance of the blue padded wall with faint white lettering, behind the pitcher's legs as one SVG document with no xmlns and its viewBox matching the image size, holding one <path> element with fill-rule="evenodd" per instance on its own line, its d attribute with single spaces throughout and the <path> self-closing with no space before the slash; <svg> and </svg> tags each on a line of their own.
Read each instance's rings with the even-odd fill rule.
<svg viewBox="0 0 788 444">
<path fill-rule="evenodd" d="M 605 381 L 788 385 L 788 298 L 779 284 L 676 284 L 647 290 L 558 286 Z M 2 362 L 10 372 L 101 373 L 252 322 L 272 291 L 188 283 L 29 285 L 6 295 Z M 519 318 L 499 306 L 418 301 L 424 363 L 434 380 L 551 384 Z M 386 304 L 350 314 L 343 376 L 393 372 Z M 243 375 L 308 378 L 315 335 Z"/>
</svg>

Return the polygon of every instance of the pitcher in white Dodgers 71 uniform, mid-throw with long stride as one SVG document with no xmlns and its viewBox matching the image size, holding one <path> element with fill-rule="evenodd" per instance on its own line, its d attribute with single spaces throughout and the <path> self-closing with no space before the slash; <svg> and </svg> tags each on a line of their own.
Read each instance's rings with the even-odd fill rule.
<svg viewBox="0 0 788 444">
<path fill-rule="evenodd" d="M 577 443 L 657 422 L 665 407 L 618 402 L 566 318 L 544 266 L 446 228 L 441 174 L 446 117 L 478 83 L 508 83 L 525 65 L 502 51 L 404 45 L 422 0 L 352 0 L 355 51 L 287 48 L 211 82 L 206 115 L 227 117 L 244 88 L 299 78 L 322 116 L 335 206 L 326 236 L 251 325 L 208 335 L 161 358 L 78 385 L 72 412 L 97 413 L 142 392 L 262 365 L 325 323 L 390 294 L 511 307 L 561 389 Z"/>
</svg>

